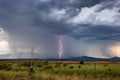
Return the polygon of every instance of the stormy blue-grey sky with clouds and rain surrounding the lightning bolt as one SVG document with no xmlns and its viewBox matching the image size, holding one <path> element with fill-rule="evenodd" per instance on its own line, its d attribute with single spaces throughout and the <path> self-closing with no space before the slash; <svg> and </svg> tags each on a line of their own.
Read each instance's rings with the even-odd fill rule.
<svg viewBox="0 0 120 80">
<path fill-rule="evenodd" d="M 15 57 L 120 57 L 120 0 L 0 0 L 0 28 Z"/>
</svg>

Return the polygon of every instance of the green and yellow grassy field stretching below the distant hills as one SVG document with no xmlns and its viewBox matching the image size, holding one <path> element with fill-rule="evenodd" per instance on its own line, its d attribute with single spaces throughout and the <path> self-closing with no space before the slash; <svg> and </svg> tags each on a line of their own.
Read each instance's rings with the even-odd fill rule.
<svg viewBox="0 0 120 80">
<path fill-rule="evenodd" d="M 120 62 L 0 61 L 0 80 L 120 80 Z"/>
</svg>

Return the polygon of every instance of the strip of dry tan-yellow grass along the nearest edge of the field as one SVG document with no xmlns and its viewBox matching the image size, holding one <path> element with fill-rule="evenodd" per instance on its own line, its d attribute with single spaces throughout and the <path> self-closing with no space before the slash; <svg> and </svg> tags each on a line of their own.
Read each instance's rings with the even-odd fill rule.
<svg viewBox="0 0 120 80">
<path fill-rule="evenodd" d="M 119 76 L 99 74 L 51 74 L 47 72 L 33 73 L 0 71 L 0 80 L 119 80 Z"/>
</svg>

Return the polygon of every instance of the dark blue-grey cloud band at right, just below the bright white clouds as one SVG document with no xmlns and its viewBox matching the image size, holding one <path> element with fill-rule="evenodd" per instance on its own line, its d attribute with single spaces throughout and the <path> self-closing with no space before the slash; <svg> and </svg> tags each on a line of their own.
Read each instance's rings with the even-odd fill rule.
<svg viewBox="0 0 120 80">
<path fill-rule="evenodd" d="M 90 40 L 118 40 L 120 39 L 120 28 L 114 26 L 83 26 L 77 28 L 71 36 L 74 38 L 86 38 Z"/>
</svg>

